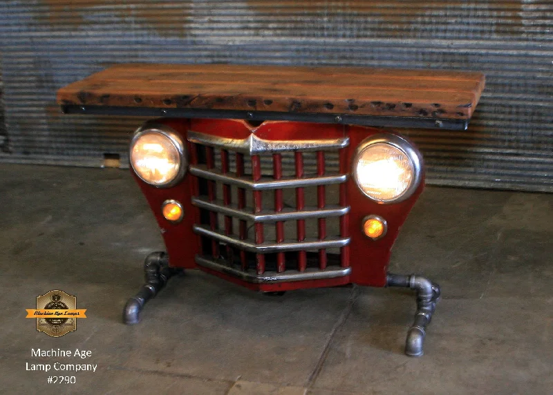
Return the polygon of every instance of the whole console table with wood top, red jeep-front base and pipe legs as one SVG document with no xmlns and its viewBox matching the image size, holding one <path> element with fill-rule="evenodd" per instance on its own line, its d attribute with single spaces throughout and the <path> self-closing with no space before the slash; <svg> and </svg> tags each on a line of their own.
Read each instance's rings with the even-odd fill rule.
<svg viewBox="0 0 553 395">
<path fill-rule="evenodd" d="M 422 355 L 440 288 L 387 270 L 424 188 L 401 131 L 464 130 L 484 85 L 457 71 L 120 64 L 60 89 L 64 113 L 153 119 L 133 135 L 131 171 L 167 253 L 147 256 L 124 321 L 182 269 L 266 293 L 408 287 L 406 354 Z"/>
</svg>

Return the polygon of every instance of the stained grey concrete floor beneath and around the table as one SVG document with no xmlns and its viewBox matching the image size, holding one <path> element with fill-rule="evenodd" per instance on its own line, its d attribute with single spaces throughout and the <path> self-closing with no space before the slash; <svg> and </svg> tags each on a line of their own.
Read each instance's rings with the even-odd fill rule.
<svg viewBox="0 0 553 395">
<path fill-rule="evenodd" d="M 128 171 L 0 165 L 0 207 L 1 393 L 553 394 L 553 195 L 427 188 L 391 262 L 442 286 L 422 358 L 403 354 L 415 303 L 397 289 L 269 298 L 190 271 L 123 325 L 163 249 Z M 50 289 L 87 309 L 62 338 L 24 318 Z M 39 347 L 90 350 L 97 371 L 47 384 L 26 363 L 61 359 Z"/>
</svg>

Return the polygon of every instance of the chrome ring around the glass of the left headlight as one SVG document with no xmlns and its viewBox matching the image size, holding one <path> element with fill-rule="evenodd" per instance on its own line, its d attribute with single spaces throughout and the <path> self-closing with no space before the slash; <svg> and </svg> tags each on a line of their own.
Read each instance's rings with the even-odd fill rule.
<svg viewBox="0 0 553 395">
<path fill-rule="evenodd" d="M 180 158 L 179 168 L 176 175 L 171 180 L 168 180 L 167 182 L 164 182 L 162 184 L 153 184 L 147 180 L 144 180 L 144 178 L 136 170 L 135 164 L 133 163 L 133 148 L 135 144 L 138 142 L 138 139 L 140 139 L 140 137 L 148 134 L 158 134 L 168 139 L 171 145 L 173 145 L 178 152 L 178 156 Z M 129 147 L 129 162 L 131 163 L 133 172 L 135 173 L 135 175 L 137 175 L 138 178 L 140 178 L 140 180 L 147 183 L 148 185 L 155 186 L 156 188 L 170 188 L 171 186 L 175 186 L 185 176 L 188 167 L 187 151 L 180 135 L 178 135 L 178 133 L 176 133 L 173 128 L 165 124 L 158 124 L 155 122 L 146 122 L 135 131 L 133 138 L 131 139 L 131 145 Z"/>
</svg>

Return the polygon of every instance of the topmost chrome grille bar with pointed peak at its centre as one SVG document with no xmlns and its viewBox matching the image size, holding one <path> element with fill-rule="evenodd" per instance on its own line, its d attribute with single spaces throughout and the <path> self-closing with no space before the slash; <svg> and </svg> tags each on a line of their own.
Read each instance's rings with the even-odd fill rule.
<svg viewBox="0 0 553 395">
<path fill-rule="evenodd" d="M 298 133 L 301 135 L 301 131 Z M 287 151 L 326 151 L 345 148 L 350 144 L 349 137 L 317 140 L 266 140 L 260 139 L 252 133 L 245 139 L 232 139 L 194 131 L 188 131 L 188 141 L 249 155 Z"/>
</svg>

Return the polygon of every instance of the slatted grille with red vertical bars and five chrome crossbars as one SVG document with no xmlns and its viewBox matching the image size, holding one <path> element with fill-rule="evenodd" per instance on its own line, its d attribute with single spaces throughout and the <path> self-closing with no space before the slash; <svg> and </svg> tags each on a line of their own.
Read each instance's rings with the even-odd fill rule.
<svg viewBox="0 0 553 395">
<path fill-rule="evenodd" d="M 200 266 L 250 282 L 349 273 L 347 138 L 236 140 L 189 132 L 188 139 Z M 338 172 L 326 170 L 327 159 Z M 328 227 L 332 220 L 339 226 Z"/>
</svg>

